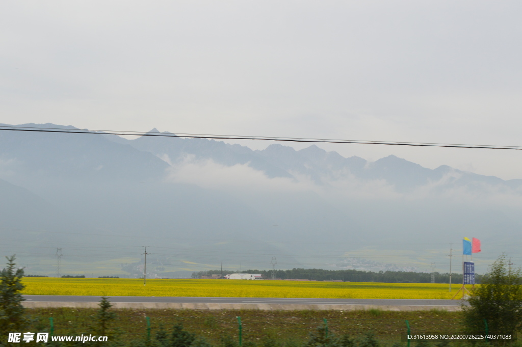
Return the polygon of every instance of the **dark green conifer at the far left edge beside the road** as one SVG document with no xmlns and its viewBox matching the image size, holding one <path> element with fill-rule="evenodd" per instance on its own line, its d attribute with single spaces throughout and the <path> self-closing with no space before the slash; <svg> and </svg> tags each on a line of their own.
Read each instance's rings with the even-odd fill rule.
<svg viewBox="0 0 522 347">
<path fill-rule="evenodd" d="M 6 259 L 7 267 L 0 272 L 0 345 L 7 345 L 9 332 L 21 332 L 29 325 L 22 306 L 23 269 L 16 268 L 14 255 Z"/>
</svg>

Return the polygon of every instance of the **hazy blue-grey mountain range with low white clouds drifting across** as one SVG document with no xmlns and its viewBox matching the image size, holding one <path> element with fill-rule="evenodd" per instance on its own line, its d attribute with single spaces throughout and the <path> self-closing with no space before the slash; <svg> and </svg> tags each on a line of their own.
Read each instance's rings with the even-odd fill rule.
<svg viewBox="0 0 522 347">
<path fill-rule="evenodd" d="M 268 268 L 273 257 L 285 269 L 365 258 L 447 271 L 450 243 L 458 254 L 462 236 L 483 241 L 480 271 L 516 249 L 522 180 L 315 145 L 252 150 L 157 129 L 133 139 L 85 133 L 0 130 L 0 250 L 32 272 L 138 276 L 143 246 L 157 276 L 221 261 Z"/>
</svg>

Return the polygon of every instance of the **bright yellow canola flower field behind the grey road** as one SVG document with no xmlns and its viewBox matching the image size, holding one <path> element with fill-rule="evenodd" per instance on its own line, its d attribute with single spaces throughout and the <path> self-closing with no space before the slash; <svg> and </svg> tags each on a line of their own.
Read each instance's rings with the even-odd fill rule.
<svg viewBox="0 0 522 347">
<path fill-rule="evenodd" d="M 448 284 L 270 280 L 24 278 L 27 295 L 450 299 Z"/>
</svg>

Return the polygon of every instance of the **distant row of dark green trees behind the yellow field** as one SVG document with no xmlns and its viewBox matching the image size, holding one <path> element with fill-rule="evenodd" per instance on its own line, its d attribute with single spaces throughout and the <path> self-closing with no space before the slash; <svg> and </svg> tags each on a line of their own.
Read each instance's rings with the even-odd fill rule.
<svg viewBox="0 0 522 347">
<path fill-rule="evenodd" d="M 260 273 L 265 278 L 272 277 L 274 270 L 224 271 L 223 276 L 231 273 Z M 197 271 L 192 278 L 201 278 L 207 274 L 221 274 L 220 270 Z M 434 272 L 435 283 L 449 283 L 449 273 Z M 381 282 L 381 283 L 431 283 L 432 273 L 413 271 L 362 271 L 362 270 L 324 270 L 297 269 L 275 270 L 277 279 L 300 279 L 315 281 L 345 281 L 345 282 Z M 475 275 L 476 283 L 481 283 L 483 276 Z M 452 283 L 462 283 L 461 273 L 452 273 Z"/>
</svg>

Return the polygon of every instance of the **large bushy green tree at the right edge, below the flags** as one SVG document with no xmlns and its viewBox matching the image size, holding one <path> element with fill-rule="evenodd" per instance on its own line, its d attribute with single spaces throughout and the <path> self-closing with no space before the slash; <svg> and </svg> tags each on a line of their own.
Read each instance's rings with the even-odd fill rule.
<svg viewBox="0 0 522 347">
<path fill-rule="evenodd" d="M 467 329 L 483 333 L 486 319 L 490 333 L 514 334 L 522 330 L 521 284 L 520 268 L 509 269 L 506 256 L 501 255 L 482 284 L 471 291 L 469 306 L 462 306 Z"/>
</svg>

